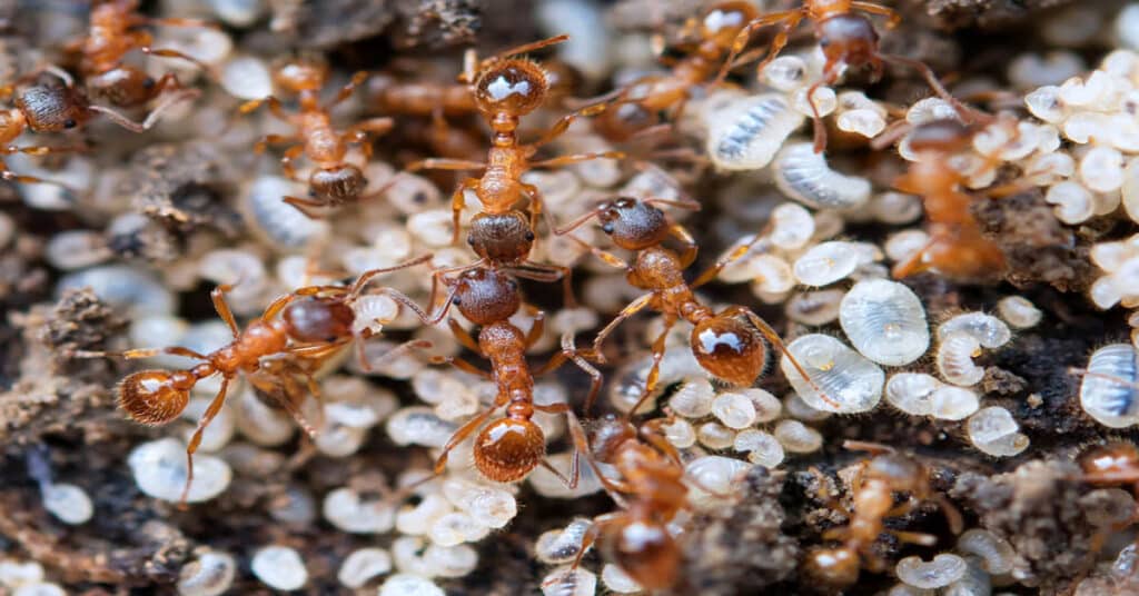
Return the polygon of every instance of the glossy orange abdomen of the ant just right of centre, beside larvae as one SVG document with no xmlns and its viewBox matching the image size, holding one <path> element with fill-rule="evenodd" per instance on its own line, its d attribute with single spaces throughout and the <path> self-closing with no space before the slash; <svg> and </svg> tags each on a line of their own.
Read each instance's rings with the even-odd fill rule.
<svg viewBox="0 0 1139 596">
<path fill-rule="evenodd" d="M 704 370 L 732 385 L 751 385 L 767 364 L 767 344 L 743 317 L 708 317 L 693 327 L 690 341 Z"/>
</svg>

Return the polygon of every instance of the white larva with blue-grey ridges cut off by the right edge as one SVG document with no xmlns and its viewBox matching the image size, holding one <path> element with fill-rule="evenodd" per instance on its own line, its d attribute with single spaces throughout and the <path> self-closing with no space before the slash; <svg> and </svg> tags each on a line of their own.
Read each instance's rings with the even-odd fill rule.
<svg viewBox="0 0 1139 596">
<path fill-rule="evenodd" d="M 1139 423 L 1139 352 L 1125 343 L 1096 350 L 1080 384 L 1080 406 L 1104 426 L 1123 428 Z"/>
</svg>

